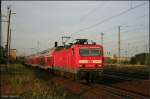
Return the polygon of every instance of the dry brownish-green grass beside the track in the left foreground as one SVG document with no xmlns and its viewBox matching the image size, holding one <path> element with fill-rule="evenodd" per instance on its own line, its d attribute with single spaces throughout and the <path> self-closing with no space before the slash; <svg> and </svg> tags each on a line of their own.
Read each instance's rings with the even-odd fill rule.
<svg viewBox="0 0 150 99">
<path fill-rule="evenodd" d="M 8 71 L 1 69 L 1 96 L 38 99 L 70 99 L 77 95 L 50 82 L 52 76 L 44 70 L 9 65 Z"/>
</svg>

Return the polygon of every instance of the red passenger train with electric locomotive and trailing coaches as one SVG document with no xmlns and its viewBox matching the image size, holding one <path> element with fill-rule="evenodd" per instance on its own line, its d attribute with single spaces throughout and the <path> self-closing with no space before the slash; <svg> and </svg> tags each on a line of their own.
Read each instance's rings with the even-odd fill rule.
<svg viewBox="0 0 150 99">
<path fill-rule="evenodd" d="M 48 68 L 51 72 L 75 80 L 93 82 L 102 74 L 104 67 L 103 46 L 88 39 L 76 39 L 74 43 L 54 47 L 27 56 L 25 64 Z"/>
</svg>

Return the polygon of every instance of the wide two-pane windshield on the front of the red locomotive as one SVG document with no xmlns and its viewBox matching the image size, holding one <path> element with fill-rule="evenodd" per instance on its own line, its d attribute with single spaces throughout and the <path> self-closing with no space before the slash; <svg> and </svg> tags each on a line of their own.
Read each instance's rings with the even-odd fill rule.
<svg viewBox="0 0 150 99">
<path fill-rule="evenodd" d="M 80 48 L 79 55 L 81 56 L 99 56 L 101 55 L 100 48 Z"/>
</svg>

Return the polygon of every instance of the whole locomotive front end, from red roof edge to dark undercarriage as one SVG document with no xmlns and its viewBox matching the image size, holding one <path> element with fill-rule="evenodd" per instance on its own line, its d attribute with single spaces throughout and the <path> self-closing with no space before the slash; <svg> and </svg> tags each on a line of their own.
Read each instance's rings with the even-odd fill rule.
<svg viewBox="0 0 150 99">
<path fill-rule="evenodd" d="M 101 45 L 82 45 L 78 48 L 78 76 L 94 81 L 102 73 L 103 48 Z"/>
</svg>

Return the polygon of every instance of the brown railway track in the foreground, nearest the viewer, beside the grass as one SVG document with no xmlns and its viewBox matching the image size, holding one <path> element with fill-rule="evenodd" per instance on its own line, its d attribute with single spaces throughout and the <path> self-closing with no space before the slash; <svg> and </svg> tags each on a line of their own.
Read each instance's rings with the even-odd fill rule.
<svg viewBox="0 0 150 99">
<path fill-rule="evenodd" d="M 53 78 L 52 81 L 81 99 L 148 99 L 149 96 L 104 84 L 83 84 L 65 78 Z"/>
</svg>

